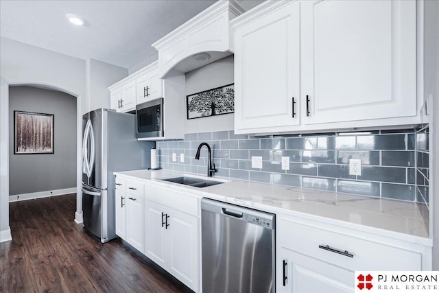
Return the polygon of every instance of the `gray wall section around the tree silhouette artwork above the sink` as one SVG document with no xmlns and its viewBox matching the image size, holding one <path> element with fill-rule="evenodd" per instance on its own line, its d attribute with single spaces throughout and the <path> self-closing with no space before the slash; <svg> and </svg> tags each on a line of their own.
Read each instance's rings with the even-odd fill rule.
<svg viewBox="0 0 439 293">
<path fill-rule="evenodd" d="M 228 56 L 186 73 L 186 95 L 233 84 L 233 70 L 233 56 Z M 184 99 L 186 107 L 186 97 Z M 182 110 L 186 111 L 186 108 Z M 233 114 L 186 120 L 185 127 L 186 133 L 233 129 Z"/>
</svg>

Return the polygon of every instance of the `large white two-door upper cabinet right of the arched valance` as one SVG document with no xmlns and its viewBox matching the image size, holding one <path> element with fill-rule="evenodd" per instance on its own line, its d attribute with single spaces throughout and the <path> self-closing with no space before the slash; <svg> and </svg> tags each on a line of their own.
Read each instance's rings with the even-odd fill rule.
<svg viewBox="0 0 439 293">
<path fill-rule="evenodd" d="M 417 21 L 412 0 L 266 1 L 233 19 L 235 132 L 419 124 Z"/>
</svg>

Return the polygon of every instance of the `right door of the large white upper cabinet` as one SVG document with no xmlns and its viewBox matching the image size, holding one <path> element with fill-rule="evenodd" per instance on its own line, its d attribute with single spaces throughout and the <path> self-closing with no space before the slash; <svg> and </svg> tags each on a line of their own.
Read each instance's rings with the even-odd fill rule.
<svg viewBox="0 0 439 293">
<path fill-rule="evenodd" d="M 301 1 L 300 30 L 305 124 L 416 115 L 415 1 Z"/>
</svg>

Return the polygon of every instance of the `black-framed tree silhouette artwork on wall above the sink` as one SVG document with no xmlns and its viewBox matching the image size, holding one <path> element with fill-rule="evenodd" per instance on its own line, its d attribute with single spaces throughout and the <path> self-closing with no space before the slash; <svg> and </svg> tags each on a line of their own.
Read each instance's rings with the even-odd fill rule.
<svg viewBox="0 0 439 293">
<path fill-rule="evenodd" d="M 211 117 L 235 111 L 233 84 L 187 95 L 187 119 Z"/>
</svg>

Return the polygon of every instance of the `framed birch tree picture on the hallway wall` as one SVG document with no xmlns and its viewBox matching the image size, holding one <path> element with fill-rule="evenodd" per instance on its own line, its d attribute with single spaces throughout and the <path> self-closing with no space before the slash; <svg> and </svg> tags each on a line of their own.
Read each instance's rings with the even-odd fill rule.
<svg viewBox="0 0 439 293">
<path fill-rule="evenodd" d="M 14 154 L 53 154 L 54 115 L 14 111 Z"/>
</svg>

